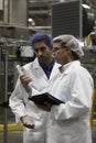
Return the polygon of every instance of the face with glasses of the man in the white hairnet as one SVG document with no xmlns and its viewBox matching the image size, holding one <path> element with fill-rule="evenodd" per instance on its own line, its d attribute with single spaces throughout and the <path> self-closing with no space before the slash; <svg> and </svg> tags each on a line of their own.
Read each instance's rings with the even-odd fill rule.
<svg viewBox="0 0 96 143">
<path fill-rule="evenodd" d="M 53 55 L 58 64 L 65 65 L 68 63 L 68 47 L 61 47 L 58 42 L 53 43 Z"/>
</svg>

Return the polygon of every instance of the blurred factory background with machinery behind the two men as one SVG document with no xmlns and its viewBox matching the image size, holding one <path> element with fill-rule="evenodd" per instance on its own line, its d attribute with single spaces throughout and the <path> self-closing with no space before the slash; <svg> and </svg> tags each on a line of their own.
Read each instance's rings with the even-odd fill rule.
<svg viewBox="0 0 96 143">
<path fill-rule="evenodd" d="M 82 64 L 95 81 L 92 125 L 96 132 L 96 0 L 0 0 L 0 143 L 11 143 L 17 136 L 22 142 L 22 125 L 14 124 L 8 99 L 18 77 L 15 65 L 34 59 L 30 40 L 38 32 L 53 37 L 68 33 L 83 43 Z M 11 136 L 11 131 L 18 131 L 17 135 Z"/>
</svg>

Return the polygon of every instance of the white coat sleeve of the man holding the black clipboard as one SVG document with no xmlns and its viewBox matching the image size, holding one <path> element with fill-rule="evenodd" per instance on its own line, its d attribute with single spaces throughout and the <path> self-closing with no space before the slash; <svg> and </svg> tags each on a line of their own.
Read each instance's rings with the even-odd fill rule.
<svg viewBox="0 0 96 143">
<path fill-rule="evenodd" d="M 51 109 L 51 118 L 54 120 L 73 119 L 90 111 L 93 79 L 83 74 L 74 74 L 68 86 L 71 99 Z"/>
</svg>

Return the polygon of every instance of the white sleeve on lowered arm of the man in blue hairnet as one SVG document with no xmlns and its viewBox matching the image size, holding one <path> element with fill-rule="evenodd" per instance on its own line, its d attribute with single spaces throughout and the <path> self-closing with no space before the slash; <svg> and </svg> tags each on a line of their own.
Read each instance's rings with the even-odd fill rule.
<svg viewBox="0 0 96 143">
<path fill-rule="evenodd" d="M 25 101 L 26 92 L 20 81 L 18 80 L 17 86 L 9 98 L 9 106 L 12 112 L 15 114 L 17 123 L 20 122 L 20 117 L 26 116 L 24 101 Z"/>
</svg>

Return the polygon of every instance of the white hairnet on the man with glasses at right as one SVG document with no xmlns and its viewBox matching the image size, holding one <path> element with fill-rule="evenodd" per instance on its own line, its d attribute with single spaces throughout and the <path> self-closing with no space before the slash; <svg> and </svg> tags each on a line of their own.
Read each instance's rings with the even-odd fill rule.
<svg viewBox="0 0 96 143">
<path fill-rule="evenodd" d="M 79 41 L 73 35 L 60 35 L 53 38 L 53 42 L 60 41 L 65 46 L 71 47 L 71 51 L 76 53 L 79 57 L 84 55 L 84 52 L 79 45 Z"/>
</svg>

